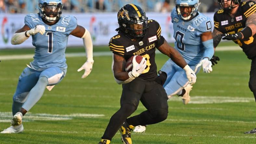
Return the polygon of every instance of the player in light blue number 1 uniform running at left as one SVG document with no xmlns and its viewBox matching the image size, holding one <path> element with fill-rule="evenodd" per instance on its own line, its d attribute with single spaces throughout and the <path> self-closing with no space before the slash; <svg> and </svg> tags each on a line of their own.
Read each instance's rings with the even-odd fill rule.
<svg viewBox="0 0 256 144">
<path fill-rule="evenodd" d="M 39 0 L 39 13 L 28 14 L 25 25 L 13 35 L 11 43 L 20 44 L 32 36 L 34 60 L 21 75 L 13 96 L 12 126 L 1 133 L 20 133 L 24 130 L 22 117 L 42 97 L 45 88 L 51 90 L 66 75 L 65 50 L 69 35 L 83 38 L 87 61 L 78 71 L 88 76 L 93 66 L 93 45 L 88 30 L 77 25 L 73 16 L 61 16 L 61 0 Z"/>
</svg>

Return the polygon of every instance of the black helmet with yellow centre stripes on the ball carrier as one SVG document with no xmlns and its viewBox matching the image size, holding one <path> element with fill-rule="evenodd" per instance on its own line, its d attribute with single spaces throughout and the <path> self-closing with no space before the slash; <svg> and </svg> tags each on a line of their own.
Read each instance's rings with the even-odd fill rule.
<svg viewBox="0 0 256 144">
<path fill-rule="evenodd" d="M 127 4 L 118 14 L 119 30 L 133 37 L 143 37 L 148 28 L 146 13 L 139 6 Z"/>
</svg>

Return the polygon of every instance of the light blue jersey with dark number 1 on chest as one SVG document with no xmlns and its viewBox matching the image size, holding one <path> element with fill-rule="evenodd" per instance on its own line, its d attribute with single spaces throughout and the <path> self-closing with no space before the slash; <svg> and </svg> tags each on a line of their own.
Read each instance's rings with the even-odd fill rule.
<svg viewBox="0 0 256 144">
<path fill-rule="evenodd" d="M 36 25 L 45 26 L 45 34 L 32 35 L 32 44 L 35 46 L 34 60 L 30 66 L 42 71 L 49 67 L 59 67 L 66 71 L 67 64 L 65 50 L 68 36 L 77 27 L 77 19 L 73 16 L 61 16 L 54 25 L 47 25 L 38 14 L 28 14 L 25 24 L 33 29 Z"/>
</svg>

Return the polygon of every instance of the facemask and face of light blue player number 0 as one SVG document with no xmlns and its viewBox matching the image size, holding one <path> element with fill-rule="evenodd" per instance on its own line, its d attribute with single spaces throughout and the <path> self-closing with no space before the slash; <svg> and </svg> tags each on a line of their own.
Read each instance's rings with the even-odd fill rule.
<svg viewBox="0 0 256 144">
<path fill-rule="evenodd" d="M 180 18 L 184 21 L 189 21 L 197 15 L 199 5 L 200 3 L 195 5 L 188 5 L 187 3 L 176 4 L 176 11 Z"/>
</svg>

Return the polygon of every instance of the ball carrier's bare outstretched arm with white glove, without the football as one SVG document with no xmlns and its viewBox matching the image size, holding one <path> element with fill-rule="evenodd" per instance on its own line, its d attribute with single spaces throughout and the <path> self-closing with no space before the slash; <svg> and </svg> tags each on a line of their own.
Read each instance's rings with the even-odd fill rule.
<svg viewBox="0 0 256 144">
<path fill-rule="evenodd" d="M 194 84 L 196 82 L 197 77 L 195 72 L 187 65 L 181 54 L 175 48 L 171 47 L 166 40 L 164 40 L 164 43 L 158 47 L 158 50 L 169 56 L 175 64 L 186 71 L 186 76 L 190 84 Z"/>
</svg>

